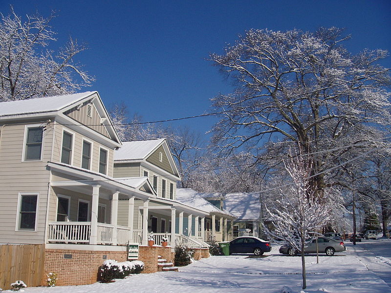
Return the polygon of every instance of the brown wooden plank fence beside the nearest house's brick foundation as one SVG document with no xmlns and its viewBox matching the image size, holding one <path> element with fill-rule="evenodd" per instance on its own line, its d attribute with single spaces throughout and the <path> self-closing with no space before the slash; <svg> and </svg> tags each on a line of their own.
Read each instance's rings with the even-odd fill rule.
<svg viewBox="0 0 391 293">
<path fill-rule="evenodd" d="M 41 285 L 45 258 L 44 244 L 0 245 L 0 288 L 22 280 L 27 287 Z"/>
</svg>

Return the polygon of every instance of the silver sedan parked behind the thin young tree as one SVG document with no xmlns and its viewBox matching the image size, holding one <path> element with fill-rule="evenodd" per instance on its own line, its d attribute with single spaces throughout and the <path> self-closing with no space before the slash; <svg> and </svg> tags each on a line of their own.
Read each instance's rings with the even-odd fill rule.
<svg viewBox="0 0 391 293">
<path fill-rule="evenodd" d="M 326 253 L 326 255 L 331 256 L 335 252 L 346 251 L 346 247 L 343 241 L 328 237 L 318 237 L 318 251 L 319 253 Z M 282 254 L 295 256 L 298 252 L 300 251 L 294 249 L 290 244 L 285 244 L 280 247 L 280 253 Z M 304 253 L 316 253 L 315 239 L 304 246 Z"/>
</svg>

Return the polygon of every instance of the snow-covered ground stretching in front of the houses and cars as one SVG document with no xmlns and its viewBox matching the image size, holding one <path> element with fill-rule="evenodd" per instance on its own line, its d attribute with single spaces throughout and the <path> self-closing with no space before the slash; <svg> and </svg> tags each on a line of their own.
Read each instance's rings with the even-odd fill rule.
<svg viewBox="0 0 391 293">
<path fill-rule="evenodd" d="M 275 245 L 261 258 L 212 256 L 179 272 L 131 275 L 109 284 L 27 288 L 25 293 L 391 293 L 391 239 L 347 247 L 335 256 L 320 255 L 319 264 L 316 256 L 306 256 L 304 291 L 300 256 L 281 255 Z"/>
</svg>

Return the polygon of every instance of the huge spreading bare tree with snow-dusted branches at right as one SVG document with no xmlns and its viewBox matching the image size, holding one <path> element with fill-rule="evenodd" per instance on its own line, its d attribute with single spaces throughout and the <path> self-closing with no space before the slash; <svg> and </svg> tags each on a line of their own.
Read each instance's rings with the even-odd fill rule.
<svg viewBox="0 0 391 293">
<path fill-rule="evenodd" d="M 343 46 L 348 39 L 335 27 L 314 33 L 252 29 L 224 54 L 212 54 L 236 86 L 212 99 L 223 112 L 212 129 L 220 153 L 247 149 L 277 167 L 289 147 L 300 146 L 312 154 L 310 183 L 321 193 L 325 171 L 339 165 L 334 154 L 357 154 L 372 141 L 363 124 L 382 127 L 391 118 L 389 69 L 377 64 L 388 52 L 351 55 Z"/>
</svg>

